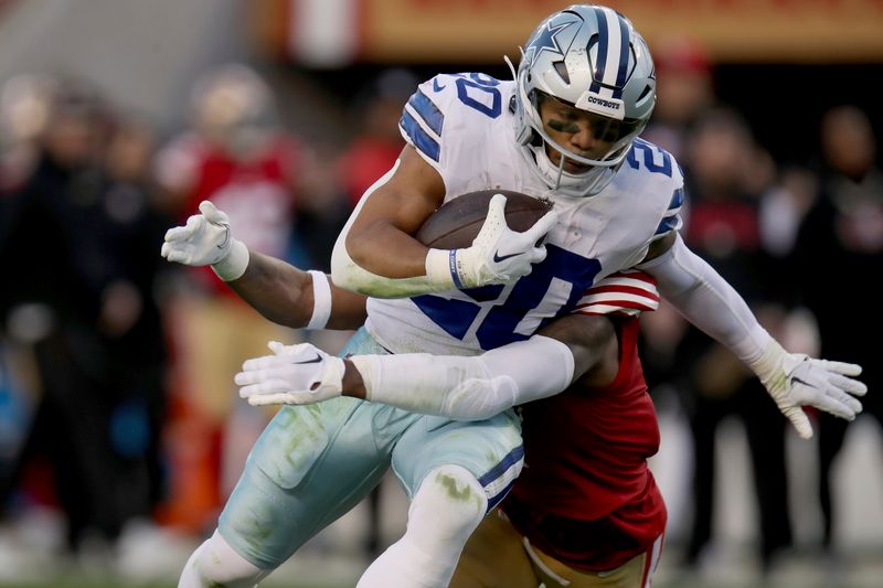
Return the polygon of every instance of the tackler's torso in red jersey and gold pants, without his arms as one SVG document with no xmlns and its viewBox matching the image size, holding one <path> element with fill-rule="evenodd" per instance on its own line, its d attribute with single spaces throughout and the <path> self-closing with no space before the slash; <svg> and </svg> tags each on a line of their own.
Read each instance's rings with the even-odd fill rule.
<svg viewBox="0 0 883 588">
<path fill-rule="evenodd" d="M 602 353 L 564 392 L 521 406 L 524 469 L 469 538 L 451 587 L 650 586 L 667 521 L 647 464 L 659 426 L 638 318 L 625 310 L 558 321 L 593 321 Z"/>
</svg>

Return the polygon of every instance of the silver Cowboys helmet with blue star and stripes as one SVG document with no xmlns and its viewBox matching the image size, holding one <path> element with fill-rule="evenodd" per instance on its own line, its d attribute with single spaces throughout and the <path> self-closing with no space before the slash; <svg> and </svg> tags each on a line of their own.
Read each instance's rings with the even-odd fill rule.
<svg viewBox="0 0 883 588">
<path fill-rule="evenodd" d="M 615 10 L 574 4 L 546 18 L 531 34 L 515 74 L 515 136 L 531 168 L 551 189 L 574 196 L 610 183 L 656 105 L 656 73 L 647 43 Z M 539 104 L 551 96 L 597 117 L 593 130 L 611 137 L 600 157 L 581 157 L 543 130 Z M 545 146 L 562 153 L 553 163 Z M 591 169 L 564 170 L 565 158 Z"/>
</svg>

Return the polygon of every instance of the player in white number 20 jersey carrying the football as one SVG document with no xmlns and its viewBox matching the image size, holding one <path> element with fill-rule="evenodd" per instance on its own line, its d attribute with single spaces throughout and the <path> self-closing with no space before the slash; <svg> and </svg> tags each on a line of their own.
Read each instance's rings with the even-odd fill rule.
<svg viewBox="0 0 883 588">
<path fill-rule="evenodd" d="M 843 373 L 855 375 L 858 366 L 788 354 L 680 240 L 680 169 L 637 138 L 652 113 L 653 75 L 627 19 L 574 6 L 540 24 L 513 82 L 458 74 L 422 84 L 402 116 L 407 146 L 334 248 L 334 281 L 371 297 L 365 327 L 343 353 L 477 355 L 528 340 L 572 313 L 593 284 L 638 266 L 752 366 L 802 436 L 811 429 L 800 405 L 854 416 L 854 381 Z M 554 212 L 514 233 L 498 196 L 471 247 L 427 249 L 413 238 L 446 200 L 494 188 L 549 199 Z M 230 238 L 216 211 L 203 213 L 169 232 L 163 255 L 213 264 L 225 280 L 242 277 L 247 248 Z M 205 240 L 206 231 L 217 240 Z M 565 345 L 540 340 L 533 367 L 563 387 L 573 357 Z M 327 376 L 320 388 L 337 386 L 342 367 Z M 833 385 L 813 387 L 828 381 Z M 253 586 L 390 467 L 412 499 L 407 531 L 359 586 L 446 586 L 469 534 L 518 475 L 522 453 L 511 409 L 456 421 L 339 396 L 286 406 L 255 445 L 219 530 L 193 554 L 180 586 Z"/>
</svg>

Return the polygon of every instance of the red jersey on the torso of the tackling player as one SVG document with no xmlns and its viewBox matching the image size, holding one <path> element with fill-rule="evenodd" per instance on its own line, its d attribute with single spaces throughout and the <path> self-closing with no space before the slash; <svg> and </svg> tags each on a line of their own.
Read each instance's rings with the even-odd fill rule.
<svg viewBox="0 0 883 588">
<path fill-rule="evenodd" d="M 524 469 L 502 509 L 532 545 L 587 570 L 651 549 L 666 505 L 647 459 L 659 425 L 638 357 L 638 319 L 614 319 L 619 372 L 605 387 L 578 384 L 522 406 Z"/>
</svg>

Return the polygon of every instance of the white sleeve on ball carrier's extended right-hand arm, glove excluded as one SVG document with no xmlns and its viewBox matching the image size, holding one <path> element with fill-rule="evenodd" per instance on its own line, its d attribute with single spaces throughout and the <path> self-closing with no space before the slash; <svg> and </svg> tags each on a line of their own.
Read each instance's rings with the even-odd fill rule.
<svg viewBox="0 0 883 588">
<path fill-rule="evenodd" d="M 662 297 L 690 322 L 755 366 L 772 341 L 769 333 L 742 296 L 680 237 L 640 269 L 656 277 Z"/>
</svg>

